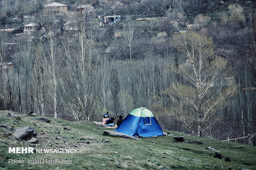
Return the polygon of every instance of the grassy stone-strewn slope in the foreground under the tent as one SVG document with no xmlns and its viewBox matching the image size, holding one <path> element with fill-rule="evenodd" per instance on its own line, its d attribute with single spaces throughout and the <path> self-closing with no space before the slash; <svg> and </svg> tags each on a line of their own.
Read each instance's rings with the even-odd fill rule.
<svg viewBox="0 0 256 170">
<path fill-rule="evenodd" d="M 32 121 L 34 117 L 17 114 L 21 119 L 8 117 L 8 111 L 0 111 L 0 169 L 256 169 L 256 148 L 246 144 L 221 142 L 210 138 L 198 138 L 164 130 L 171 135 L 157 138 L 127 140 L 103 136 L 109 130 L 89 121 L 69 122 L 50 119 L 50 123 Z M 65 124 L 66 126 L 62 126 Z M 31 126 L 38 133 L 38 144 L 14 140 L 13 128 Z M 68 128 L 70 130 L 64 130 Z M 111 129 L 113 130 L 113 129 Z M 176 142 L 173 135 L 183 135 L 184 140 L 203 144 Z M 81 138 L 83 138 L 81 140 Z M 109 141 L 109 142 L 108 142 Z M 90 144 L 88 144 L 90 143 Z M 33 149 L 78 149 L 77 154 L 9 154 L 8 147 L 33 147 Z M 213 158 L 220 151 L 223 159 Z M 212 154 L 213 153 L 213 154 Z M 224 158 L 231 161 L 224 161 Z M 9 164 L 8 159 L 71 159 L 72 164 Z"/>
</svg>

